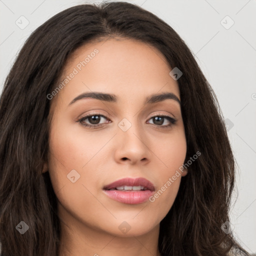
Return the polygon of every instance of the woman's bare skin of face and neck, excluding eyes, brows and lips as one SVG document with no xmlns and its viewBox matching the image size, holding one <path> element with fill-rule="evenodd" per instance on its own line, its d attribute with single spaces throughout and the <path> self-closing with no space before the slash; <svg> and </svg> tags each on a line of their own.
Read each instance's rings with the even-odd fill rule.
<svg viewBox="0 0 256 256">
<path fill-rule="evenodd" d="M 49 171 L 61 220 L 60 256 L 157 255 L 159 223 L 171 208 L 184 171 L 155 201 L 125 204 L 106 196 L 102 187 L 123 177 L 144 177 L 158 191 L 181 166 L 186 138 L 180 105 L 173 99 L 143 105 L 153 93 L 172 92 L 180 100 L 172 69 L 156 48 L 143 42 L 111 38 L 87 43 L 67 61 L 62 79 L 95 48 L 98 53 L 52 99 Z M 77 69 L 77 68 L 76 68 Z M 78 70 L 78 69 L 77 69 Z M 83 98 L 83 92 L 115 94 L 117 102 Z M 83 126 L 79 118 L 102 114 L 101 127 Z M 153 122 L 167 114 L 176 119 Z M 117 125 L 126 118 L 131 127 Z M 83 121 L 93 125 L 91 119 Z M 155 124 L 156 123 L 156 124 Z M 166 126 L 171 124 L 167 128 Z M 80 178 L 72 183 L 68 173 Z M 130 229 L 118 226 L 126 221 Z"/>
</svg>

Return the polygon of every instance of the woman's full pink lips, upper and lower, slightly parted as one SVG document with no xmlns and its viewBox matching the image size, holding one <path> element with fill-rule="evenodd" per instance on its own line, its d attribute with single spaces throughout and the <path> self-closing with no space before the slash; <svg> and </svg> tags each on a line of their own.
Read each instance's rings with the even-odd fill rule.
<svg viewBox="0 0 256 256">
<path fill-rule="evenodd" d="M 147 187 L 146 190 L 130 190 L 130 191 L 120 191 L 120 190 L 108 190 L 115 188 L 116 186 L 144 186 Z M 148 198 L 153 194 L 154 186 L 153 184 L 145 178 L 122 178 L 112 182 L 103 187 L 103 191 L 113 200 L 127 203 L 127 204 L 137 204 L 148 200 Z"/>
</svg>

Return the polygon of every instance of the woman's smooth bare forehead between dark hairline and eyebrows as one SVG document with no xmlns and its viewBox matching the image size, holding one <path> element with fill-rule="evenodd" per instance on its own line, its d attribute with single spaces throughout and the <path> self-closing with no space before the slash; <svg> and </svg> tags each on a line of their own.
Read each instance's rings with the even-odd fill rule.
<svg viewBox="0 0 256 256">
<path fill-rule="evenodd" d="M 148 43 L 127 38 L 94 40 L 69 57 L 57 97 L 68 104 L 82 92 L 98 91 L 131 102 L 162 90 L 179 98 L 177 81 L 169 75 L 171 69 L 163 54 Z"/>
</svg>

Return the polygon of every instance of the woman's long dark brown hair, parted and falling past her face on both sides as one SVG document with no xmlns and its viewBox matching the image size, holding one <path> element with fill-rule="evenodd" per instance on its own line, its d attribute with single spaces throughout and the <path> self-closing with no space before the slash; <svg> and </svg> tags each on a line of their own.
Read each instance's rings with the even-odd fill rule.
<svg viewBox="0 0 256 256">
<path fill-rule="evenodd" d="M 0 98 L 1 256 L 56 256 L 60 220 L 47 160 L 50 100 L 70 54 L 108 36 L 133 38 L 156 47 L 177 80 L 187 141 L 186 159 L 201 155 L 182 177 L 176 199 L 160 222 L 163 256 L 248 255 L 221 225 L 229 221 L 235 160 L 219 104 L 193 54 L 163 20 L 127 2 L 81 4 L 40 25 L 24 43 Z M 29 227 L 20 234 L 16 226 Z M 23 222 L 21 222 L 22 224 Z"/>
</svg>

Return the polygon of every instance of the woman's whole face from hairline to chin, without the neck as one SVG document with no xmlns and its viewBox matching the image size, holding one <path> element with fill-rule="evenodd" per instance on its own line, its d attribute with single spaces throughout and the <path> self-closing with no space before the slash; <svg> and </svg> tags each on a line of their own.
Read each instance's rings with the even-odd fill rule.
<svg viewBox="0 0 256 256">
<path fill-rule="evenodd" d="M 180 100 L 170 70 L 156 48 L 130 39 L 87 43 L 69 58 L 48 96 L 55 104 L 44 165 L 69 227 L 140 235 L 169 211 L 186 174 L 172 179 L 186 154 L 181 109 L 173 97 L 148 99 L 164 92 Z M 91 92 L 112 96 L 79 96 Z"/>
</svg>

